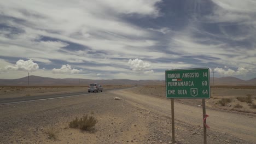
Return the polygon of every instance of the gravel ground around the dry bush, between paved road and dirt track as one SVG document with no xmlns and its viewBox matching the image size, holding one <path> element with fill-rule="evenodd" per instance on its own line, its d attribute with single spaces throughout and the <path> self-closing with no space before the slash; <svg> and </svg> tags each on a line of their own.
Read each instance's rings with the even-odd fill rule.
<svg viewBox="0 0 256 144">
<path fill-rule="evenodd" d="M 114 100 L 120 97 L 120 100 Z M 171 118 L 110 92 L 1 105 L 0 143 L 171 143 Z M 75 117 L 98 119 L 95 131 L 68 128 Z M 202 127 L 176 120 L 177 143 L 202 143 Z M 56 139 L 49 139 L 49 131 Z M 208 143 L 248 143 L 209 130 Z"/>
</svg>

